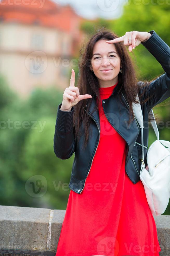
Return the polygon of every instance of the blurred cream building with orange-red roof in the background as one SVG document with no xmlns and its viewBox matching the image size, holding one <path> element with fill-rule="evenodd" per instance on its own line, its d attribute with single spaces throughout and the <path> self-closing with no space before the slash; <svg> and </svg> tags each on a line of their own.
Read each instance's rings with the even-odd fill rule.
<svg viewBox="0 0 170 256">
<path fill-rule="evenodd" d="M 2 0 L 0 73 L 11 88 L 27 97 L 36 86 L 68 87 L 83 21 L 69 5 L 50 0 Z"/>
</svg>

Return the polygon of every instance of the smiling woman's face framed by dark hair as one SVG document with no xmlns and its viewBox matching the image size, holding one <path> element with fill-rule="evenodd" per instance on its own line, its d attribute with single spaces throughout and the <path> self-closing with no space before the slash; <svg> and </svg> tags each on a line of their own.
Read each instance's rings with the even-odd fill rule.
<svg viewBox="0 0 170 256">
<path fill-rule="evenodd" d="M 93 70 L 99 80 L 100 87 L 109 87 L 117 83 L 120 72 L 121 60 L 114 44 L 99 40 L 95 43 L 91 58 L 90 70 Z M 110 53 L 112 52 L 112 53 Z M 102 71 L 110 69 L 110 71 Z"/>
</svg>

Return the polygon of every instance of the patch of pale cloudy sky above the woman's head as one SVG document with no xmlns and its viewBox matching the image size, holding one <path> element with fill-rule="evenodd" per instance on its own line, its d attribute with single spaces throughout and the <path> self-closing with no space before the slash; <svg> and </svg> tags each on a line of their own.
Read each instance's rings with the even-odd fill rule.
<svg viewBox="0 0 170 256">
<path fill-rule="evenodd" d="M 117 19 L 122 15 L 122 7 L 128 0 L 54 0 L 56 3 L 70 4 L 75 12 L 86 19 Z"/>
</svg>

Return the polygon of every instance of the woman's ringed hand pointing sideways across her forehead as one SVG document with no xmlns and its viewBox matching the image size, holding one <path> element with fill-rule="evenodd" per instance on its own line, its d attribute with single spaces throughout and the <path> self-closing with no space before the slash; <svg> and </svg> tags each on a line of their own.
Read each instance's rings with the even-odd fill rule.
<svg viewBox="0 0 170 256">
<path fill-rule="evenodd" d="M 135 49 L 140 43 L 145 42 L 150 36 L 151 33 L 148 32 L 130 31 L 126 32 L 124 36 L 108 40 L 106 43 L 112 44 L 123 41 L 124 45 L 129 46 L 129 51 L 132 51 L 132 49 Z"/>
</svg>

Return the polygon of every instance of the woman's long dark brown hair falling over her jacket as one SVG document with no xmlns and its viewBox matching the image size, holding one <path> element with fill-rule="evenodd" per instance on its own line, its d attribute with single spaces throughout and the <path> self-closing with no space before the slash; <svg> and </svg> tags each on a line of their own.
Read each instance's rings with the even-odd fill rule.
<svg viewBox="0 0 170 256">
<path fill-rule="evenodd" d="M 77 80 L 77 87 L 79 88 L 80 95 L 82 94 L 90 94 L 92 97 L 97 95 L 98 98 L 100 98 L 100 93 L 99 93 L 99 82 L 97 77 L 95 76 L 94 72 L 92 73 L 90 70 L 90 65 L 91 65 L 91 58 L 93 55 L 93 48 L 94 45 L 97 41 L 99 40 L 112 40 L 114 38 L 119 37 L 116 33 L 113 31 L 106 29 L 103 27 L 102 29 L 99 29 L 96 31 L 95 34 L 90 36 L 88 38 L 88 42 L 86 43 L 84 52 L 81 53 L 82 49 L 80 50 L 80 60 L 79 60 L 79 76 Z M 119 55 L 122 63 L 122 73 L 119 72 L 118 74 L 118 80 L 120 82 L 120 88 L 117 94 L 120 97 L 121 101 L 121 92 L 125 92 L 126 94 L 126 100 L 128 101 L 129 104 L 129 123 L 134 119 L 134 113 L 132 109 L 132 102 L 135 102 L 138 104 L 138 101 L 136 101 L 135 96 L 138 93 L 140 104 L 144 104 L 149 100 L 149 98 L 153 97 L 151 95 L 150 97 L 146 98 L 145 100 L 142 101 L 142 96 L 145 94 L 145 90 L 147 90 L 149 84 L 155 80 L 146 82 L 146 81 L 141 81 L 144 82 L 143 85 L 139 85 L 138 79 L 136 78 L 136 70 L 138 70 L 135 62 L 132 60 L 132 58 L 129 56 L 128 52 L 128 47 L 125 47 L 123 42 L 118 42 L 115 43 L 115 48 L 117 50 L 117 54 Z M 138 75 L 140 77 L 140 74 Z M 158 76 L 159 77 L 159 76 Z M 143 88 L 143 93 L 139 94 L 140 88 Z M 80 133 L 80 124 L 83 122 L 84 128 L 85 128 L 85 138 L 84 138 L 84 147 L 87 146 L 87 141 L 89 137 L 89 127 L 90 127 L 90 122 L 91 117 L 87 114 L 88 112 L 88 107 L 86 111 L 84 111 L 84 107 L 87 104 L 89 99 L 86 100 L 81 100 L 78 104 L 74 106 L 74 115 L 73 115 L 73 125 L 74 125 L 74 133 L 76 138 L 79 140 L 81 133 Z M 121 101 L 122 102 L 122 101 Z M 123 103 L 122 103 L 123 104 Z M 89 104 L 90 105 L 90 104 Z M 98 104 L 96 104 L 96 107 L 92 111 L 92 113 L 98 109 Z M 156 120 L 157 118 L 155 118 Z M 148 121 L 152 121 L 153 119 L 151 117 L 148 117 Z"/>
</svg>

